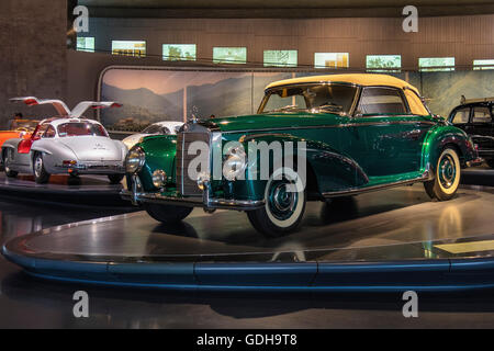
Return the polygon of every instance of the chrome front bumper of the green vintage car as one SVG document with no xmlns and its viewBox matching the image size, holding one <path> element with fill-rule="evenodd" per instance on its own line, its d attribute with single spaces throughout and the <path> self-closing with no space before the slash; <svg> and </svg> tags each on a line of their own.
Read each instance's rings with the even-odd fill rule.
<svg viewBox="0 0 494 351">
<path fill-rule="evenodd" d="M 123 190 L 121 196 L 124 200 L 131 201 L 134 205 L 142 203 L 156 203 L 164 205 L 177 205 L 184 207 L 203 207 L 204 210 L 237 210 L 251 211 L 261 208 L 265 201 L 251 200 L 229 200 L 216 199 L 210 196 L 211 185 L 206 184 L 202 197 L 188 196 L 167 196 L 160 193 L 144 193 L 138 178 L 133 177 L 132 191 Z"/>
</svg>

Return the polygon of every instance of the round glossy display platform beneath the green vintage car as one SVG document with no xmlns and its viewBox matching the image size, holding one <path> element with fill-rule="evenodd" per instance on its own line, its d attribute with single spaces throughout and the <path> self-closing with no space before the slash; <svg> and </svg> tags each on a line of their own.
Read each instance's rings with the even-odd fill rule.
<svg viewBox="0 0 494 351">
<path fill-rule="evenodd" d="M 494 286 L 494 190 L 431 202 L 420 184 L 308 203 L 268 239 L 238 212 L 165 226 L 139 212 L 14 238 L 3 254 L 61 281 L 162 288 L 385 291 Z"/>
</svg>

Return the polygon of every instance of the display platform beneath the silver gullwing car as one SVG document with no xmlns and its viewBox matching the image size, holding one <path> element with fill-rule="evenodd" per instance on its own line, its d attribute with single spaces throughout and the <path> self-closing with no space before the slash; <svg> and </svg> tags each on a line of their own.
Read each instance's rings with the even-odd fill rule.
<svg viewBox="0 0 494 351">
<path fill-rule="evenodd" d="M 52 176 L 49 183 L 36 184 L 33 176 L 8 178 L 0 173 L 0 195 L 44 202 L 94 206 L 131 206 L 120 197 L 122 184 L 110 184 L 105 176 Z"/>
</svg>

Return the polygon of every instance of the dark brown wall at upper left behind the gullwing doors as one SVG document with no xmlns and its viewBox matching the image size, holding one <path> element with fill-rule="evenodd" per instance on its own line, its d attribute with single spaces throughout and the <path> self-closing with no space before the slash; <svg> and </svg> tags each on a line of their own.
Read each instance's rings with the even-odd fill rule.
<svg viewBox="0 0 494 351">
<path fill-rule="evenodd" d="M 34 112 L 10 103 L 12 97 L 66 97 L 66 0 L 0 1 L 0 127 L 5 127 L 15 112 L 54 113 L 47 106 Z"/>
</svg>

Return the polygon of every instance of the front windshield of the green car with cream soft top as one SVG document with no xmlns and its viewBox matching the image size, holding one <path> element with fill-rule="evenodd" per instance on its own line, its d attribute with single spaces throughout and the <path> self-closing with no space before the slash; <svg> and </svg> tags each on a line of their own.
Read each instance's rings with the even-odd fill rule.
<svg viewBox="0 0 494 351">
<path fill-rule="evenodd" d="M 313 113 L 350 112 L 357 88 L 349 84 L 305 84 L 270 89 L 259 113 L 310 111 Z"/>
</svg>

